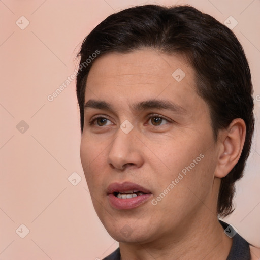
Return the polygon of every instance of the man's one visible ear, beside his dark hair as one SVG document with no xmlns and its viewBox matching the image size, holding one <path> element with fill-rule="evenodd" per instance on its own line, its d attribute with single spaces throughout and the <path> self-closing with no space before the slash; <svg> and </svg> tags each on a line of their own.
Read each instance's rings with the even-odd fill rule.
<svg viewBox="0 0 260 260">
<path fill-rule="evenodd" d="M 243 119 L 234 119 L 228 128 L 219 131 L 219 153 L 215 177 L 223 178 L 237 164 L 245 143 L 246 124 Z"/>
</svg>

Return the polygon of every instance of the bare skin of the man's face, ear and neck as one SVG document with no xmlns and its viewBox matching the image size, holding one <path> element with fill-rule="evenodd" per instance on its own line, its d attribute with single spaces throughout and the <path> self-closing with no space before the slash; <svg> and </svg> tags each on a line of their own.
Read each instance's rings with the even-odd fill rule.
<svg viewBox="0 0 260 260">
<path fill-rule="evenodd" d="M 172 76 L 177 68 L 185 73 L 180 82 Z M 180 56 L 151 49 L 94 61 L 86 84 L 85 103 L 89 100 L 113 107 L 85 110 L 81 161 L 95 211 L 119 241 L 122 259 L 225 260 L 232 239 L 218 222 L 217 196 L 221 178 L 240 157 L 244 121 L 235 119 L 215 141 L 193 69 Z M 170 101 L 175 110 L 131 109 L 147 100 Z M 90 125 L 94 116 L 101 118 Z M 133 125 L 128 134 L 120 129 L 125 120 Z M 192 170 L 158 201 L 194 159 Z M 133 209 L 115 209 L 107 187 L 125 181 L 149 189 L 151 198 Z M 122 232 L 126 226 L 127 236 Z"/>
</svg>

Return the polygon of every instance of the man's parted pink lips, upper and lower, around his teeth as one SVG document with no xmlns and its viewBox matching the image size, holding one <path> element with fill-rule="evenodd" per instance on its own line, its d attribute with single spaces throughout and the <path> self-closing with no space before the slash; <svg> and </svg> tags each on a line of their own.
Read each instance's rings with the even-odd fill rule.
<svg viewBox="0 0 260 260">
<path fill-rule="evenodd" d="M 145 194 L 139 195 L 130 199 L 120 199 L 114 195 L 114 192 L 124 192 L 124 191 L 134 191 L 138 190 Z M 152 196 L 150 190 L 136 184 L 133 182 L 123 182 L 123 183 L 112 183 L 107 188 L 107 195 L 110 205 L 115 209 L 133 209 L 141 204 L 145 203 Z"/>
</svg>

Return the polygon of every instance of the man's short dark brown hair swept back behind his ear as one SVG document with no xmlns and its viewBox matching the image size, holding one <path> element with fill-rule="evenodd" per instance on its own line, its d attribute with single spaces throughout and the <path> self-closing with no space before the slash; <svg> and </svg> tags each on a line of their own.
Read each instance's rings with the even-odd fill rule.
<svg viewBox="0 0 260 260">
<path fill-rule="evenodd" d="M 143 47 L 187 57 L 196 72 L 198 94 L 208 104 L 215 141 L 218 130 L 235 118 L 246 123 L 246 139 L 241 157 L 231 172 L 221 180 L 217 212 L 230 214 L 235 182 L 243 175 L 254 131 L 253 89 L 245 53 L 234 33 L 208 14 L 191 6 L 162 7 L 145 5 L 110 15 L 84 39 L 78 54 L 80 63 L 100 53 L 129 53 Z M 96 56 L 96 55 L 95 55 Z M 85 88 L 91 58 L 77 75 L 77 98 L 81 131 L 84 127 Z"/>
</svg>

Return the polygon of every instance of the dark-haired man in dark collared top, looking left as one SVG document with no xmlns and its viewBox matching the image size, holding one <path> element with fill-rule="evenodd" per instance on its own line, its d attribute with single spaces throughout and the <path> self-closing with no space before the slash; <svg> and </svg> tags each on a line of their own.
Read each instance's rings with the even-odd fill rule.
<svg viewBox="0 0 260 260">
<path fill-rule="evenodd" d="M 105 259 L 256 259 L 233 210 L 254 130 L 233 32 L 190 6 L 110 15 L 82 43 L 81 161 Z"/>
</svg>

